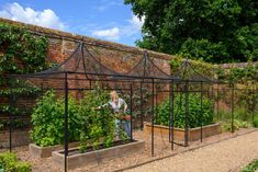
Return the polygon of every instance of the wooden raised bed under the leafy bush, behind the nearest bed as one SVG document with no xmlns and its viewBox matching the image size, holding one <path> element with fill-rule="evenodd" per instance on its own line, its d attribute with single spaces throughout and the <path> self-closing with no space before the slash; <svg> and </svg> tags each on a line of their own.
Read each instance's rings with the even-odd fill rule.
<svg viewBox="0 0 258 172">
<path fill-rule="evenodd" d="M 75 147 L 78 147 L 78 146 L 79 146 L 79 142 L 69 144 L 69 148 L 75 148 Z M 35 144 L 30 144 L 29 149 L 30 149 L 30 153 L 33 157 L 48 158 L 48 157 L 52 157 L 53 151 L 64 149 L 64 146 L 56 145 L 56 146 L 49 146 L 49 147 L 38 147 Z"/>
</svg>

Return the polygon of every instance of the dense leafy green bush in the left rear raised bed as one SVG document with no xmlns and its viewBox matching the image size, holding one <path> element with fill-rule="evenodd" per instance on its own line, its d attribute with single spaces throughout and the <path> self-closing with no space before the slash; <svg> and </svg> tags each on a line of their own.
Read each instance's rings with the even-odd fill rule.
<svg viewBox="0 0 258 172">
<path fill-rule="evenodd" d="M 69 140 L 78 140 L 79 124 L 78 105 L 74 99 L 68 102 Z M 64 141 L 65 102 L 57 99 L 54 91 L 47 91 L 38 101 L 32 113 L 32 140 L 41 147 L 63 144 Z"/>
</svg>

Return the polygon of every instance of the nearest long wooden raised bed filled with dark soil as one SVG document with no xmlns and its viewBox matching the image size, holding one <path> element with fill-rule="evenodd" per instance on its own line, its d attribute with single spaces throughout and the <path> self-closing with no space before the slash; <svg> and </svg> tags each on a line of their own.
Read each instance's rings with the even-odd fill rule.
<svg viewBox="0 0 258 172">
<path fill-rule="evenodd" d="M 88 164 L 98 164 L 100 161 L 111 160 L 114 158 L 121 158 L 135 152 L 144 150 L 145 142 L 142 140 L 134 140 L 124 145 L 117 145 L 110 148 L 103 148 L 99 150 L 89 150 L 88 152 L 80 153 L 78 148 L 69 149 L 67 157 L 67 169 L 76 169 Z M 52 153 L 53 163 L 64 170 L 65 156 L 64 150 L 54 151 Z"/>
</svg>

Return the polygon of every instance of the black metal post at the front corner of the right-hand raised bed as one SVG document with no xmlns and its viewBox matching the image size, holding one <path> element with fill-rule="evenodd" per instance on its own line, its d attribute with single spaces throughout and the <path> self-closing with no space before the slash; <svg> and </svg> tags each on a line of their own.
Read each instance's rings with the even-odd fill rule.
<svg viewBox="0 0 258 172">
<path fill-rule="evenodd" d="M 184 146 L 188 147 L 188 133 L 189 133 L 189 92 L 188 92 L 188 81 L 184 85 L 184 93 L 186 93 L 186 116 L 184 116 Z"/>
</svg>

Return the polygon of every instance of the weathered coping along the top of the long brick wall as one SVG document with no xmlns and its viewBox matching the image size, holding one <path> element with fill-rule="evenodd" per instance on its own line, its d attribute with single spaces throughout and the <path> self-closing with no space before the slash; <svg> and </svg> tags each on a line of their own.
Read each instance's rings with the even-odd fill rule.
<svg viewBox="0 0 258 172">
<path fill-rule="evenodd" d="M 45 35 L 51 38 L 58 38 L 58 39 L 67 39 L 71 42 L 83 42 L 88 45 L 93 45 L 93 46 L 100 46 L 109 49 L 115 49 L 115 50 L 121 50 L 121 51 L 127 51 L 132 54 L 139 54 L 143 55 L 144 50 L 143 48 L 138 47 L 133 47 L 133 46 L 127 46 L 119 43 L 113 43 L 113 42 L 108 42 L 108 41 L 102 41 L 85 35 L 79 35 L 75 33 L 68 33 L 64 31 L 58 31 L 58 30 L 53 30 L 53 28 L 47 28 L 43 26 L 37 26 L 33 24 L 26 24 L 18 21 L 12 21 L 8 19 L 0 18 L 0 23 L 9 23 L 12 25 L 18 25 L 25 27 L 26 30 L 31 31 L 35 35 Z M 159 58 L 159 59 L 165 59 L 165 60 L 170 60 L 173 58 L 172 55 L 164 54 L 164 53 L 157 53 L 153 50 L 148 50 L 148 54 L 154 57 L 154 58 Z"/>
</svg>

